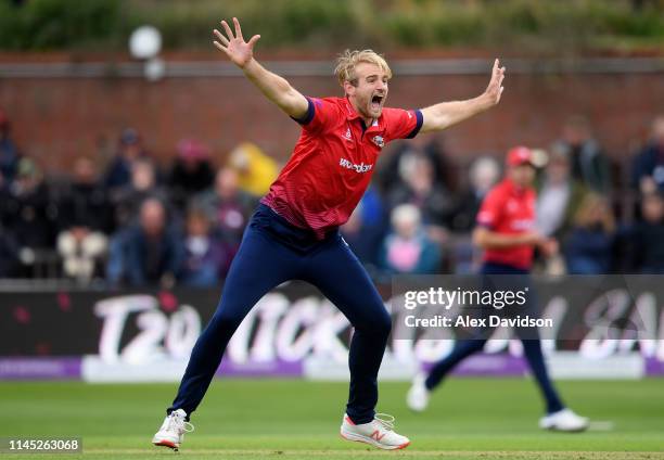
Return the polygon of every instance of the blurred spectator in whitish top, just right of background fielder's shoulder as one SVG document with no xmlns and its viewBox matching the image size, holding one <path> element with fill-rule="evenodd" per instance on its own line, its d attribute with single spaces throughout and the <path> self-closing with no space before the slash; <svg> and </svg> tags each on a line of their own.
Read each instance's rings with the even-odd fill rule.
<svg viewBox="0 0 664 460">
<path fill-rule="evenodd" d="M 587 190 L 572 178 L 570 154 L 551 148 L 537 194 L 537 229 L 545 237 L 564 238 Z"/>
</svg>

